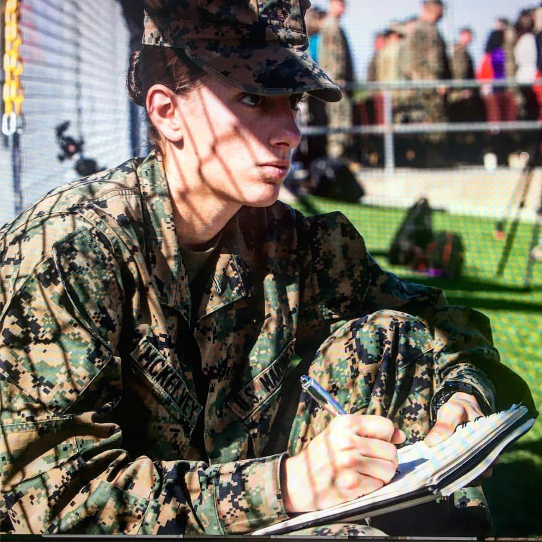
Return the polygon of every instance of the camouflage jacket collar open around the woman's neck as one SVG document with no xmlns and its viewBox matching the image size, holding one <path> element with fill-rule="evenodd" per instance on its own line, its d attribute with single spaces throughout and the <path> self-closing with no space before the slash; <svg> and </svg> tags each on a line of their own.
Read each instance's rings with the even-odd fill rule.
<svg viewBox="0 0 542 542">
<path fill-rule="evenodd" d="M 178 248 L 163 162 L 156 151 L 152 151 L 138 166 L 137 175 L 143 196 L 149 286 L 158 292 L 161 304 L 176 309 L 190 322 L 188 275 Z M 206 288 L 210 293 L 203 295 L 198 319 L 251 293 L 249 254 L 237 215 L 227 224 L 217 250 L 216 267 Z"/>
</svg>

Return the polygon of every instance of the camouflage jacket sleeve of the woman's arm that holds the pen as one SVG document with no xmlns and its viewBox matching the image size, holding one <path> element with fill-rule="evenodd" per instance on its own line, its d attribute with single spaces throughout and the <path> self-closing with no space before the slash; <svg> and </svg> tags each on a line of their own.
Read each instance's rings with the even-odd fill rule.
<svg viewBox="0 0 542 542">
<path fill-rule="evenodd" d="M 78 228 L 4 259 L 0 512 L 15 533 L 227 534 L 286 519 L 282 454 L 232 463 L 130 457 L 115 420 L 124 370 L 123 275 L 100 231 Z M 15 253 L 13 253 L 15 254 Z M 15 286 L 14 286 L 15 285 Z M 144 438 L 144 434 L 142 434 Z M 7 520 L 9 518 L 9 520 Z"/>
</svg>

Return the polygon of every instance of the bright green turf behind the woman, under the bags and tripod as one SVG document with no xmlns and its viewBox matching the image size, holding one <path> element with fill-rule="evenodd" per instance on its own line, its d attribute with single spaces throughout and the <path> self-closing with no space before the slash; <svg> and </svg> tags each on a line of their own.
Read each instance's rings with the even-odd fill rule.
<svg viewBox="0 0 542 542">
<path fill-rule="evenodd" d="M 461 279 L 428 279 L 402 267 L 390 266 L 386 251 L 401 224 L 404 209 L 366 207 L 324 198 L 305 197 L 295 205 L 306 215 L 340 210 L 364 236 L 367 248 L 386 269 L 402 278 L 444 290 L 450 304 L 466 305 L 486 314 L 501 358 L 530 385 L 542 412 L 542 263 L 534 267 L 531 288 L 524 288 L 533 226 L 520 223 L 504 274 L 496 276 L 504 241 L 493 236 L 495 221 L 434 211 L 433 228 L 460 233 L 466 246 Z M 542 416 L 540 417 L 542 418 Z M 542 421 L 501 455 L 485 482 L 498 537 L 542 536 Z"/>
</svg>

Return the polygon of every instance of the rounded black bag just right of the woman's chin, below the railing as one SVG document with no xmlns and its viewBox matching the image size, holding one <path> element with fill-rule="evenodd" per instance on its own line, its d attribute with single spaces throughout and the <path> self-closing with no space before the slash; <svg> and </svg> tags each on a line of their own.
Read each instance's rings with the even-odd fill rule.
<svg viewBox="0 0 542 542">
<path fill-rule="evenodd" d="M 345 160 L 319 158 L 309 167 L 309 192 L 315 196 L 358 202 L 365 195 Z"/>
</svg>

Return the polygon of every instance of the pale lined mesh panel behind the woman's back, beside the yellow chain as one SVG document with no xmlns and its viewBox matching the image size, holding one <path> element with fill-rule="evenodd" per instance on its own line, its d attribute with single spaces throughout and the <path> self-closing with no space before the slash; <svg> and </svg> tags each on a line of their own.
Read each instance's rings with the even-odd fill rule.
<svg viewBox="0 0 542 542">
<path fill-rule="evenodd" d="M 21 2 L 19 25 L 23 126 L 0 136 L 2 223 L 54 186 L 80 177 L 79 158 L 101 169 L 132 156 L 125 90 L 130 35 L 120 4 Z M 84 142 L 72 157 L 57 140 L 57 127 L 66 121 L 62 135 Z"/>
</svg>

